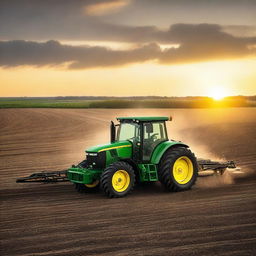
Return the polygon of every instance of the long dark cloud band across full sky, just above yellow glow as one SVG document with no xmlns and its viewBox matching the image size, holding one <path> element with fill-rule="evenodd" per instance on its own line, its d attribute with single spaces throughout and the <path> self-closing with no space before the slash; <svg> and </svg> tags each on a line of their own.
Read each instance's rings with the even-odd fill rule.
<svg viewBox="0 0 256 256">
<path fill-rule="evenodd" d="M 68 63 L 70 69 L 85 69 L 152 60 L 176 64 L 255 56 L 255 48 L 249 46 L 256 44 L 256 37 L 234 37 L 223 32 L 219 25 L 175 24 L 166 32 L 155 33 L 152 39 L 180 46 L 161 50 L 157 43 L 149 43 L 129 50 L 111 50 L 105 47 L 63 45 L 58 41 L 2 41 L 0 65 L 56 66 Z"/>
</svg>

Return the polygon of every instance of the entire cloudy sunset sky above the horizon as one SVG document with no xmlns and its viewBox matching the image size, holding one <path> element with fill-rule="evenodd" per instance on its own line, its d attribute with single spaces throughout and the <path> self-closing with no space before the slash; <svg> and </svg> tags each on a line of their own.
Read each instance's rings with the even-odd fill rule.
<svg viewBox="0 0 256 256">
<path fill-rule="evenodd" d="M 1 0 L 0 96 L 256 94 L 255 0 Z"/>
</svg>

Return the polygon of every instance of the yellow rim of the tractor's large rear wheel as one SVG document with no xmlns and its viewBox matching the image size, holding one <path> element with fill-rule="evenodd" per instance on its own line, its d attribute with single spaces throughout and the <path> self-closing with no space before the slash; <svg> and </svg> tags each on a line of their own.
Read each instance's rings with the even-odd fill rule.
<svg viewBox="0 0 256 256">
<path fill-rule="evenodd" d="M 192 161 L 186 156 L 178 158 L 172 169 L 173 177 L 179 184 L 188 183 L 193 176 L 193 172 L 194 168 Z"/>
</svg>

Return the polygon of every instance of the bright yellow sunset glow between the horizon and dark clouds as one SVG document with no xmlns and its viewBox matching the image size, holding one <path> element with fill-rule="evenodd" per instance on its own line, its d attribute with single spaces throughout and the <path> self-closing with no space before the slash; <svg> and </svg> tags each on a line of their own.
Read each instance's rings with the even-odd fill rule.
<svg viewBox="0 0 256 256">
<path fill-rule="evenodd" d="M 174 66 L 148 63 L 72 71 L 61 67 L 17 67 L 0 69 L 0 77 L 1 96 L 9 97 L 191 95 L 217 99 L 251 95 L 256 84 L 254 61 L 238 60 Z"/>
</svg>

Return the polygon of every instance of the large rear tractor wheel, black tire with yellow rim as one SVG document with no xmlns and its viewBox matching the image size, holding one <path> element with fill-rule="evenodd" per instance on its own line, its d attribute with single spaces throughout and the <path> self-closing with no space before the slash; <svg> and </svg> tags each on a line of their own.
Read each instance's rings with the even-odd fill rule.
<svg viewBox="0 0 256 256">
<path fill-rule="evenodd" d="M 185 147 L 168 150 L 162 157 L 158 176 L 168 191 L 190 189 L 196 182 L 198 165 L 195 155 Z"/>
</svg>

